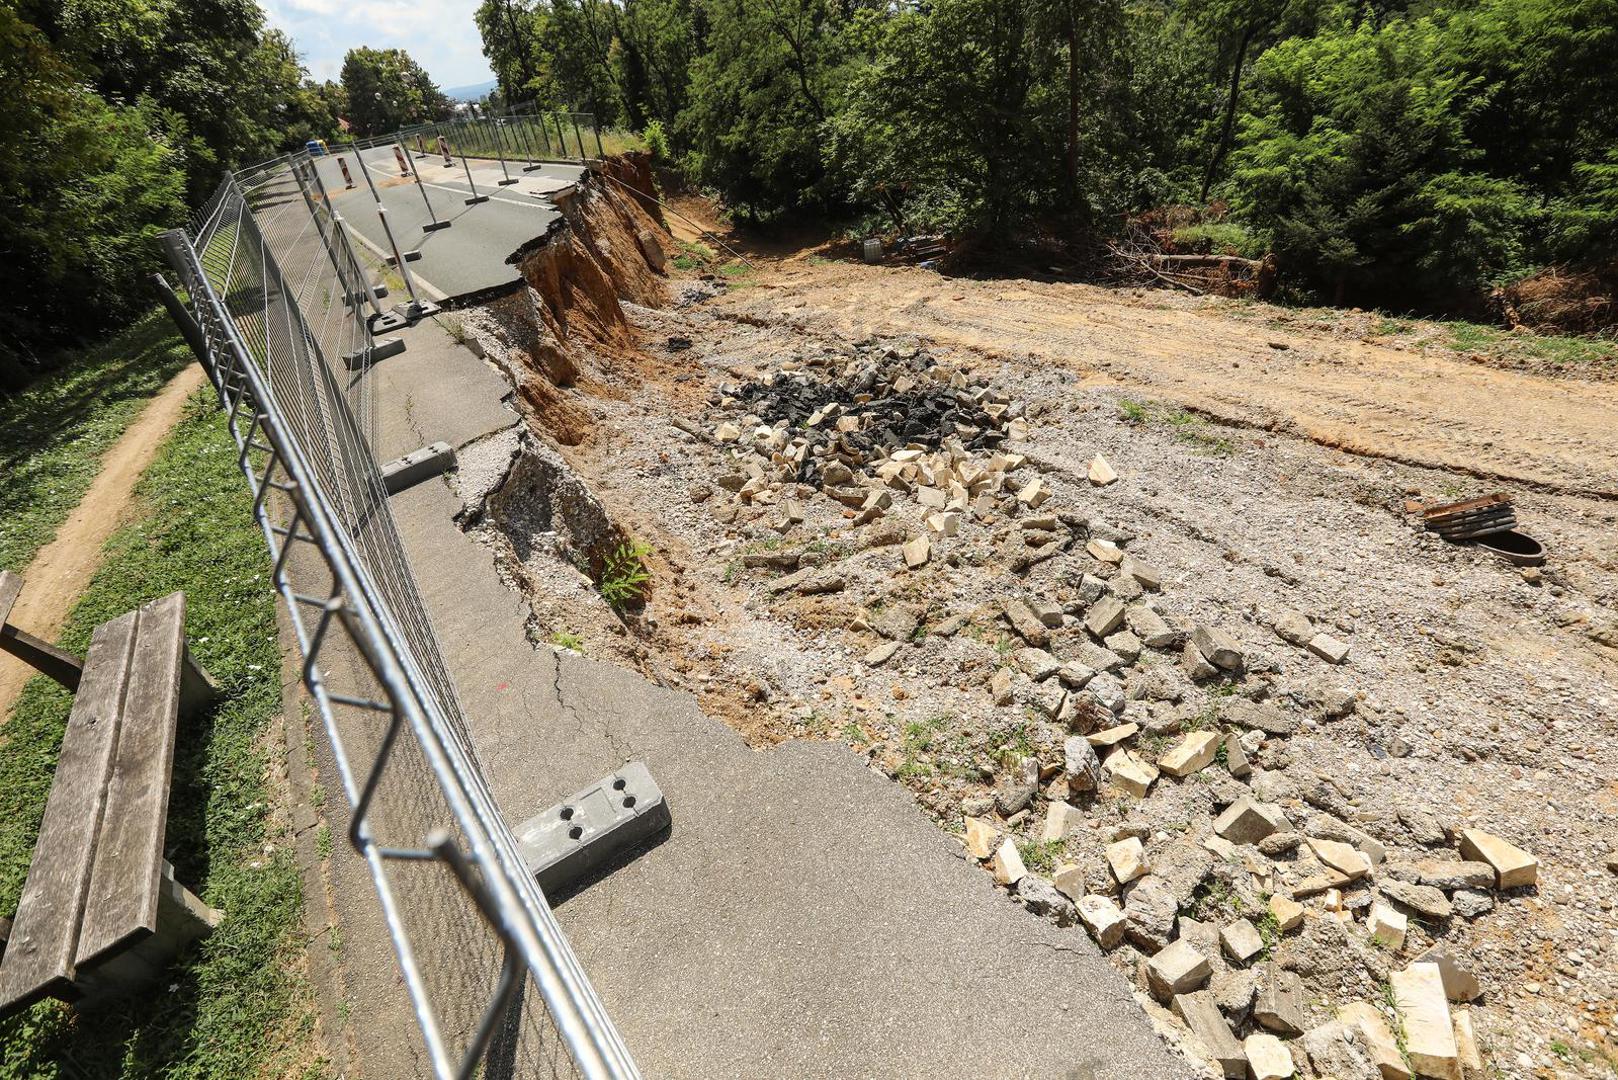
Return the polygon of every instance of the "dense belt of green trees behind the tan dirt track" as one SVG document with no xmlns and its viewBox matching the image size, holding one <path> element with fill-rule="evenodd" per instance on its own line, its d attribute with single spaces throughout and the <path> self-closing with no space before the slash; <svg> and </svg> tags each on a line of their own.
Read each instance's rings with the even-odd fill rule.
<svg viewBox="0 0 1618 1080">
<path fill-rule="evenodd" d="M 1618 0 L 484 0 L 511 99 L 644 130 L 743 219 L 1273 251 L 1464 308 L 1618 254 Z"/>
</svg>

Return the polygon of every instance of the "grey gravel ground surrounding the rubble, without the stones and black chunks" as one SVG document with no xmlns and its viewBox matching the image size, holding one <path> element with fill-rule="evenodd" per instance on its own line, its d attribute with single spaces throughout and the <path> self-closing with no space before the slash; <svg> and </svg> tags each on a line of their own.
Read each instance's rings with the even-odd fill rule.
<svg viewBox="0 0 1618 1080">
<path fill-rule="evenodd" d="M 497 504 L 519 499 L 492 499 L 487 512 L 472 507 L 469 528 L 529 596 L 536 640 L 689 688 L 756 743 L 851 743 L 914 792 L 942 827 L 961 832 L 966 818 L 977 818 L 1016 840 L 1032 874 L 1008 889 L 1008 902 L 1029 907 L 1029 918 L 1042 910 L 1071 920 L 1071 905 L 1034 884 L 1065 865 L 1078 868 L 1069 881 L 1084 886 L 1074 895 L 1110 895 L 1126 912 L 1139 907 L 1136 894 L 1146 904 L 1165 889 L 1180 913 L 1167 936 L 1207 957 L 1209 986 L 1238 1038 L 1262 1030 L 1254 981 L 1270 986 L 1283 972 L 1296 973 L 1302 1027 L 1312 1030 L 1348 1002 L 1382 1006 L 1390 972 L 1438 944 L 1479 981 L 1479 996 L 1455 1009 L 1469 1010 L 1484 1075 L 1618 1070 L 1612 502 L 1542 483 L 1485 486 L 1453 470 L 1226 427 L 1032 355 L 914 335 L 849 340 L 846 313 L 822 319 L 790 290 L 780 285 L 760 304 L 756 288 L 726 296 L 723 287 L 688 280 L 668 309 L 626 306 L 659 376 L 581 397 L 592 432 L 561 458 L 581 481 L 582 494 L 570 499 L 589 500 L 592 510 L 498 512 Z M 911 495 L 893 492 L 885 513 L 856 526 L 853 510 L 815 487 L 786 484 L 759 505 L 723 486 L 752 455 L 712 434 L 726 423 L 743 431 L 757 424 L 726 389 L 769 381 L 783 366 L 892 363 L 917 350 L 1026 403 L 1029 437 L 1006 444 L 1026 461 L 1008 491 L 1037 476 L 1052 492 L 1047 504 L 1019 510 L 1005 499 L 987 518 L 968 512 L 956 536 L 934 534 L 929 562 L 908 570 L 895 541 L 927 534 L 924 518 L 934 513 Z M 1118 363 L 1129 363 L 1128 351 Z M 824 376 L 811 369 L 809 377 Z M 519 453 L 544 457 L 540 473 L 553 470 L 550 449 L 531 440 Z M 1118 471 L 1116 483 L 1086 478 L 1097 453 Z M 1446 502 L 1495 489 L 1514 499 L 1523 528 L 1550 549 L 1544 570 L 1519 572 L 1450 546 L 1406 508 L 1411 499 Z M 786 499 L 801 504 L 801 523 L 785 525 Z M 1024 523 L 1058 512 L 1060 554 L 1016 572 L 1031 551 Z M 600 517 L 613 526 L 605 533 L 654 549 L 646 602 L 628 612 L 613 612 L 576 568 L 591 541 L 570 536 L 566 520 Z M 1097 538 L 1154 568 L 1160 588 L 1142 589 L 1087 554 Z M 772 589 L 798 567 L 840 585 Z M 1116 722 L 1139 725 L 1125 748 L 1150 761 L 1186 733 L 1246 733 L 1249 776 L 1233 777 L 1222 751 L 1184 779 L 1158 777 L 1146 798 L 1112 784 L 1069 790 L 1065 743 L 1074 730 L 1115 722 L 1099 719 L 1095 708 L 1107 696 L 1097 693 L 1105 677 L 1073 690 L 1078 714 L 1069 706 L 1048 716 L 1040 703 L 1058 680 L 1024 674 L 1036 672 L 1037 657 L 1023 653 L 1026 643 L 1000 606 L 1026 597 L 1065 609 L 1045 648 L 1074 661 L 1091 656 L 1082 622 L 1099 591 L 1154 609 L 1173 631 L 1171 648 L 1144 648 L 1118 670 L 1128 699 L 1118 703 Z M 1298 615 L 1346 644 L 1346 662 L 1328 664 L 1283 640 L 1277 622 L 1290 627 Z M 1235 638 L 1244 672 L 1194 680 L 1181 644 L 1194 627 Z M 895 648 L 880 648 L 888 643 Z M 997 690 L 1006 690 L 993 685 L 1002 669 L 1014 675 L 1000 675 L 1010 693 L 995 704 Z M 1285 733 L 1260 740 L 1256 717 Z M 1302 928 L 1280 933 L 1262 918 L 1267 895 L 1322 866 L 1309 844 L 1223 845 L 1214 819 L 1244 795 L 1278 805 L 1304 836 L 1358 837 L 1361 850 L 1380 847 L 1385 858 L 1340 895 L 1302 899 Z M 1073 806 L 1069 826 L 1047 844 L 1058 806 Z M 1455 915 L 1411 918 L 1400 949 L 1374 944 L 1370 904 L 1391 899 L 1400 882 L 1414 884 L 1417 865 L 1456 860 L 1464 829 L 1532 852 L 1537 886 L 1450 887 Z M 1120 886 L 1103 852 L 1126 836 L 1144 840 L 1150 874 Z M 1238 965 L 1214 934 L 1244 916 L 1265 947 Z M 1152 941 L 1149 921 L 1133 918 L 1129 939 L 1112 957 L 1173 1033 L 1178 1022 L 1150 1001 L 1144 968 L 1163 942 Z M 1359 1075 L 1312 1062 L 1306 1043 L 1291 1044 L 1302 1075 Z"/>
</svg>

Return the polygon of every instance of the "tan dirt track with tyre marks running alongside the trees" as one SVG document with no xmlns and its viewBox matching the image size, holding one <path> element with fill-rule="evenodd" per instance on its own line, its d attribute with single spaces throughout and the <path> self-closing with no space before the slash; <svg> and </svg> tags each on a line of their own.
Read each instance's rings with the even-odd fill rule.
<svg viewBox="0 0 1618 1080">
<path fill-rule="evenodd" d="M 1267 304 L 790 259 L 725 308 L 1055 363 L 1353 453 L 1618 497 L 1618 384 L 1356 340 Z M 1233 317 L 1235 316 L 1235 317 Z M 1286 324 L 1280 319 L 1288 319 Z M 1364 322 L 1364 321 L 1361 321 Z"/>
</svg>

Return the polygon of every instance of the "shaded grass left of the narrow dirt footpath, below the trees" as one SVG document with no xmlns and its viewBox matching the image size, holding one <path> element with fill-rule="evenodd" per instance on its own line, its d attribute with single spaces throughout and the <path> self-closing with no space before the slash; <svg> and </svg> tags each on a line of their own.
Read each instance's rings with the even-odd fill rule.
<svg viewBox="0 0 1618 1080">
<path fill-rule="evenodd" d="M 193 361 L 163 311 L 0 397 L 0 567 L 23 570 L 79 505 L 100 458 Z"/>
</svg>

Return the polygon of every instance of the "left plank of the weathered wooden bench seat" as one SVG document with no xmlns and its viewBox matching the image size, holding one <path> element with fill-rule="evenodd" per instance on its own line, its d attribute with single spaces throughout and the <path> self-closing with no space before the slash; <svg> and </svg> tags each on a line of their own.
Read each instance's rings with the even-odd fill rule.
<svg viewBox="0 0 1618 1080">
<path fill-rule="evenodd" d="M 68 714 L 57 776 L 45 800 L 34 860 L 0 962 L 0 1012 L 45 994 L 71 994 L 79 920 L 95 857 L 104 792 L 118 742 L 118 716 L 134 651 L 138 612 L 95 628 L 89 662 Z"/>
</svg>

